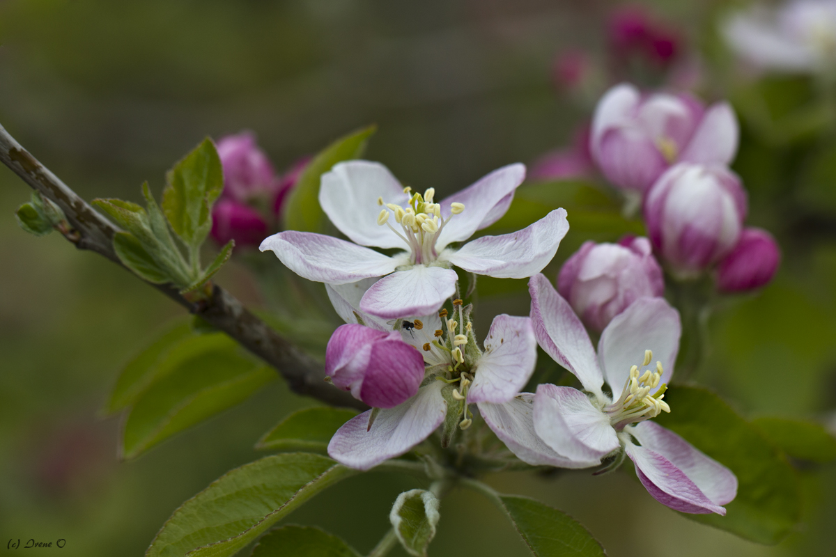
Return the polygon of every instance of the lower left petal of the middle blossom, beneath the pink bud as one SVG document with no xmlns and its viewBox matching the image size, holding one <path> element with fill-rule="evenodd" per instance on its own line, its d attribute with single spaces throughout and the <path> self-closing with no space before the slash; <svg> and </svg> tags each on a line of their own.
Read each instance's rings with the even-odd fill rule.
<svg viewBox="0 0 836 557">
<path fill-rule="evenodd" d="M 331 438 L 329 456 L 349 468 L 368 470 L 407 452 L 444 421 L 447 403 L 441 396 L 443 386 L 441 381 L 433 381 L 405 403 L 380 410 L 370 429 L 371 410 L 351 418 Z"/>
</svg>

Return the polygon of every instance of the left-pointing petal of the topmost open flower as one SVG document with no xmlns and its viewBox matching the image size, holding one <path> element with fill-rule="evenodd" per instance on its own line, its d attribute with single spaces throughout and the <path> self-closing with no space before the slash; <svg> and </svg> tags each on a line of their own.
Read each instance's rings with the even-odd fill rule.
<svg viewBox="0 0 836 557">
<path fill-rule="evenodd" d="M 344 284 L 388 275 L 404 261 L 333 236 L 287 230 L 268 236 L 258 247 L 308 281 Z"/>
</svg>

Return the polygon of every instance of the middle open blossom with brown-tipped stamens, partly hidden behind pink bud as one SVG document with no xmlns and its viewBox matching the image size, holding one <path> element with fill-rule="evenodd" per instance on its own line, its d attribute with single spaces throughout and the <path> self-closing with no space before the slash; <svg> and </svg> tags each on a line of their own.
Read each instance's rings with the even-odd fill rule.
<svg viewBox="0 0 836 557">
<path fill-rule="evenodd" d="M 391 325 L 356 307 L 364 289 L 372 282 L 329 285 L 329 296 L 346 321 L 356 322 L 359 316 L 368 327 L 392 332 Z M 483 417 L 514 412 L 515 396 L 528 382 L 537 360 L 531 320 L 497 316 L 482 351 L 469 317 L 461 305 L 455 307 L 457 315 L 454 312 L 443 321 L 433 313 L 408 322 L 412 326 L 409 328 L 403 328 L 400 320 L 395 322 L 403 342 L 411 345 L 410 350 L 421 352 L 424 358 L 421 387 L 415 396 L 394 408 L 370 410 L 350 419 L 331 438 L 328 447 L 331 458 L 351 468 L 366 470 L 406 453 L 445 420 L 458 428 L 468 428 L 472 423 L 469 407 L 473 403 Z M 504 409 L 506 405 L 509 408 Z M 502 423 L 487 418 L 486 421 L 497 436 L 507 437 Z"/>
</svg>

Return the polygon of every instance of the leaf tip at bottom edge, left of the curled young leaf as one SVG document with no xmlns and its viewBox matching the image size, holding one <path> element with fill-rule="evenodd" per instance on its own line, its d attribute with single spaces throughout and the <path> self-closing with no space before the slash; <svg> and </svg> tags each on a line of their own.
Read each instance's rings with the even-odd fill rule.
<svg viewBox="0 0 836 557">
<path fill-rule="evenodd" d="M 251 557 L 360 557 L 342 539 L 324 530 L 294 524 L 265 534 Z"/>
</svg>

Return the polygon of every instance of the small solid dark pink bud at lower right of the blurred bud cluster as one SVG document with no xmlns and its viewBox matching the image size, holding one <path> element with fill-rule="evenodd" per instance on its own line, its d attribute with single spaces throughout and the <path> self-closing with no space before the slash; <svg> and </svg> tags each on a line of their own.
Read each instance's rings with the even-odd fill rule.
<svg viewBox="0 0 836 557">
<path fill-rule="evenodd" d="M 772 281 L 781 251 L 766 230 L 744 229 L 737 246 L 717 266 L 717 289 L 724 292 L 754 290 Z"/>
</svg>

